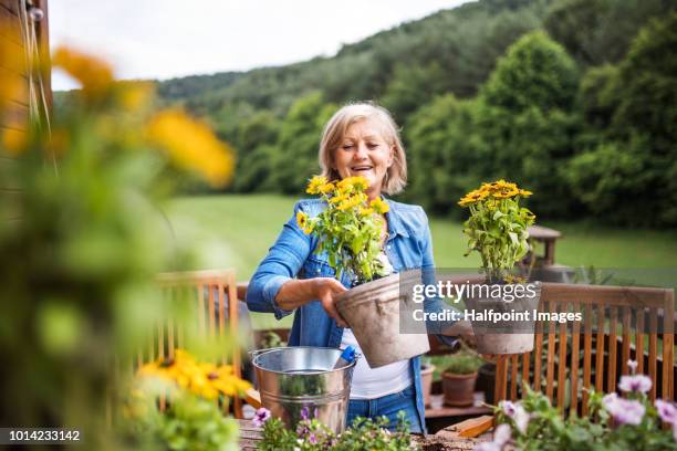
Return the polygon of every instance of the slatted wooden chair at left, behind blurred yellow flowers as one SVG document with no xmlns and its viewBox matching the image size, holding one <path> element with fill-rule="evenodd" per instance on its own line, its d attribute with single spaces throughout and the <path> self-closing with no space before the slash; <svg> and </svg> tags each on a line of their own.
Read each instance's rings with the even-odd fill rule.
<svg viewBox="0 0 677 451">
<path fill-rule="evenodd" d="M 192 272 L 163 273 L 157 276 L 157 283 L 166 302 L 188 302 L 198 322 L 198 334 L 207 339 L 223 338 L 226 333 L 236 335 L 238 332 L 238 296 L 236 274 L 233 270 L 210 270 Z M 174 357 L 176 348 L 183 348 L 186 343 L 186 331 L 176 318 L 168 317 L 157 324 L 145 349 L 138 352 L 138 366 L 154 361 L 160 357 Z M 233 374 L 241 377 L 239 352 L 223 349 L 215 364 L 232 365 Z M 160 408 L 163 407 L 160 400 Z M 242 401 L 233 402 L 233 415 L 242 418 Z"/>
</svg>

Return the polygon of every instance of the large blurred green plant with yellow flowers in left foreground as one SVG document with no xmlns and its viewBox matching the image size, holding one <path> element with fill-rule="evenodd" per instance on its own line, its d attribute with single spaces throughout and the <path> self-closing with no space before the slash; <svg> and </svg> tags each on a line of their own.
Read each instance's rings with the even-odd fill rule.
<svg viewBox="0 0 677 451">
<path fill-rule="evenodd" d="M 191 319 L 178 303 L 164 303 L 156 286 L 158 272 L 194 261 L 158 204 L 181 165 L 219 175 L 212 164 L 225 155 L 184 114 L 152 114 L 148 86 L 112 83 L 104 63 L 66 49 L 54 62 L 83 90 L 62 99 L 51 133 L 32 123 L 21 146 L 0 143 L 0 159 L 12 161 L 2 182 L 15 192 L 0 199 L 0 298 L 7 301 L 0 422 L 70 424 L 87 448 L 121 449 L 106 418 L 121 410 L 114 399 L 121 365 L 147 345 L 165 315 Z M 0 116 L 4 106 L 0 99 Z M 171 133 L 158 133 L 167 120 Z M 192 159 L 184 139 L 194 144 Z M 176 154 L 183 158 L 170 170 Z M 228 176 L 227 165 L 220 175 Z M 188 342 L 189 327 L 184 331 Z"/>
</svg>

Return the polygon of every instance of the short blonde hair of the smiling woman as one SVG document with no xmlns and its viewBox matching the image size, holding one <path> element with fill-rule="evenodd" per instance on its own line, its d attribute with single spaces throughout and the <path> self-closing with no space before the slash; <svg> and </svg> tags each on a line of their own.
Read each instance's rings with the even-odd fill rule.
<svg viewBox="0 0 677 451">
<path fill-rule="evenodd" d="M 376 119 L 383 128 L 382 136 L 388 146 L 394 147 L 393 165 L 388 168 L 381 190 L 386 195 L 396 195 L 407 185 L 407 159 L 399 138 L 397 125 L 390 113 L 374 103 L 355 103 L 338 109 L 324 126 L 320 141 L 320 167 L 322 176 L 330 181 L 340 180 L 341 176 L 333 166 L 333 153 L 341 145 L 348 127 L 360 120 Z"/>
</svg>

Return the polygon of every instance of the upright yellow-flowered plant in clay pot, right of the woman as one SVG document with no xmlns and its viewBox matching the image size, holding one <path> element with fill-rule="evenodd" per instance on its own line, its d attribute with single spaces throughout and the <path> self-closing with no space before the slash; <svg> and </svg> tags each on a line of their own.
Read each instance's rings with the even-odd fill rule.
<svg viewBox="0 0 677 451">
<path fill-rule="evenodd" d="M 527 228 L 534 214 L 520 207 L 530 191 L 498 180 L 467 193 L 458 203 L 468 208 L 464 223 L 468 251 L 481 256 L 485 284 L 470 286 L 466 307 L 480 354 L 517 354 L 533 349 L 533 312 L 540 298 L 540 283 L 527 283 L 512 271 L 529 251 Z"/>
</svg>

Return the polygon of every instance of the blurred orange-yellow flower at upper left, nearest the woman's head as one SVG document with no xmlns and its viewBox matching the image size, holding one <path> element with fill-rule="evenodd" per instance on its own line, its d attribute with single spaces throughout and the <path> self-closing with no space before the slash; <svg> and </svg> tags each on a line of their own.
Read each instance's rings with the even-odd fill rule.
<svg viewBox="0 0 677 451">
<path fill-rule="evenodd" d="M 222 186 L 232 176 L 231 148 L 219 141 L 206 124 L 180 109 L 156 114 L 146 126 L 146 136 L 178 166 L 200 172 L 212 186 Z"/>
</svg>

